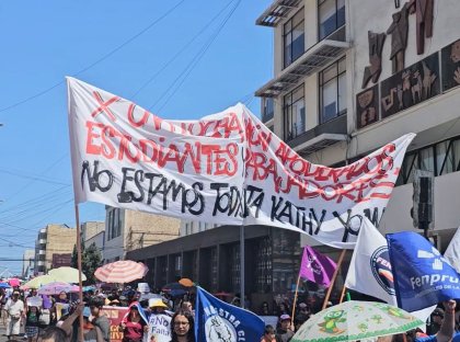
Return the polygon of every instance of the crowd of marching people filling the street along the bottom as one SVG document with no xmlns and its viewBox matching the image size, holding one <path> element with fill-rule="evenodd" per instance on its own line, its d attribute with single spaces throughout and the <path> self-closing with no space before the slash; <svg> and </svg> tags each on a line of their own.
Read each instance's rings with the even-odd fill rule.
<svg viewBox="0 0 460 342">
<path fill-rule="evenodd" d="M 147 340 L 149 317 L 166 315 L 171 318 L 170 339 L 172 342 L 195 342 L 195 311 L 193 295 L 184 295 L 180 299 L 166 294 L 152 297 L 142 295 L 130 288 L 120 290 L 88 290 L 83 303 L 77 300 L 76 294 L 61 292 L 55 296 L 37 295 L 36 289 L 22 292 L 13 288 L 9 293 L 0 290 L 2 306 L 1 318 L 10 341 L 18 340 L 21 327 L 24 327 L 25 338 L 32 341 L 78 341 L 83 335 L 84 341 L 108 342 L 111 340 L 111 321 L 103 314 L 104 306 L 126 307 L 127 314 L 117 327 L 123 332 L 123 342 L 157 342 L 154 337 Z M 36 300 L 39 298 L 39 300 Z M 173 300 L 176 299 L 176 300 Z M 37 305 L 39 303 L 39 305 Z M 233 300 L 233 304 L 234 300 Z M 327 303 L 331 306 L 332 303 Z M 59 309 L 60 308 L 60 309 Z M 292 319 L 291 311 L 296 312 Z M 276 324 L 267 324 L 261 342 L 288 342 L 295 332 L 308 321 L 313 312 L 310 306 L 300 301 L 292 310 L 288 304 L 278 303 L 269 308 L 268 303 L 262 304 L 260 316 L 277 315 Z M 80 330 L 79 317 L 83 318 L 83 330 Z M 460 341 L 459 307 L 451 300 L 446 308 L 437 308 L 430 316 L 426 332 L 410 331 L 405 341 Z M 453 317 L 453 318 L 452 318 Z M 113 328 L 112 328 L 113 329 Z M 452 340 L 452 334 L 455 338 Z M 435 338 L 433 338 L 435 337 Z M 391 341 L 388 340 L 387 341 Z M 398 341 L 394 337 L 393 341 Z M 255 341 L 258 342 L 258 341 Z"/>
</svg>

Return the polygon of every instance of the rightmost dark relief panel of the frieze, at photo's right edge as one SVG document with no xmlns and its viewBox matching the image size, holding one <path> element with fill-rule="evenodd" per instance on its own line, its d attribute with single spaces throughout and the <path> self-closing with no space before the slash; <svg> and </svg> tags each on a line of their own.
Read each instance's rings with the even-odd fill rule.
<svg viewBox="0 0 460 342">
<path fill-rule="evenodd" d="M 460 86 L 460 39 L 441 49 L 442 91 Z"/>
</svg>

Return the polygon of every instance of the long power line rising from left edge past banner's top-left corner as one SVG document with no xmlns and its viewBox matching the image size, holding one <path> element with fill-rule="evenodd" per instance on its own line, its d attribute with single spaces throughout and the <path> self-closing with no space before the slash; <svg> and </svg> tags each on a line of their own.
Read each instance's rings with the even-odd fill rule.
<svg viewBox="0 0 460 342">
<path fill-rule="evenodd" d="M 161 20 L 163 20 L 164 18 L 166 18 L 169 14 L 171 14 L 176 8 L 179 8 L 183 2 L 185 2 L 185 0 L 181 0 L 180 2 L 177 2 L 174 7 L 172 7 L 169 11 L 166 11 L 163 15 L 161 15 L 160 18 L 158 18 L 157 20 L 154 20 L 152 23 L 150 23 L 147 27 L 145 27 L 143 30 L 141 30 L 140 32 L 136 33 L 134 36 L 129 37 L 127 41 L 125 41 L 124 43 L 122 43 L 120 45 L 118 45 L 117 47 L 115 47 L 114 49 L 112 49 L 111 52 L 108 52 L 107 54 L 105 54 L 104 56 L 102 56 L 101 58 L 99 58 L 97 60 L 95 60 L 94 62 L 90 64 L 89 66 L 84 67 L 83 69 L 79 70 L 78 72 L 73 73 L 72 77 L 79 76 L 80 73 L 83 73 L 85 71 L 88 71 L 89 69 L 95 67 L 96 65 L 99 65 L 100 62 L 104 61 L 105 59 L 107 59 L 108 57 L 111 57 L 112 55 L 114 55 L 115 53 L 117 53 L 119 49 L 122 49 L 123 47 L 125 47 L 126 45 L 128 45 L 129 43 L 131 43 L 133 41 L 135 41 L 136 38 L 138 38 L 140 35 L 142 35 L 143 33 L 146 33 L 147 31 L 149 31 L 151 27 L 153 27 L 156 24 L 158 24 Z M 65 83 L 65 80 L 59 81 L 39 92 L 37 92 L 34 95 L 31 95 L 28 98 L 25 98 L 23 100 L 20 100 L 13 104 L 10 104 L 5 107 L 0 109 L 0 113 L 7 112 L 9 110 L 12 110 L 16 106 L 20 106 L 21 104 L 24 104 L 26 102 L 30 102 L 36 98 L 39 98 L 48 92 L 50 92 L 51 90 L 54 90 L 55 88 L 61 86 Z"/>
</svg>

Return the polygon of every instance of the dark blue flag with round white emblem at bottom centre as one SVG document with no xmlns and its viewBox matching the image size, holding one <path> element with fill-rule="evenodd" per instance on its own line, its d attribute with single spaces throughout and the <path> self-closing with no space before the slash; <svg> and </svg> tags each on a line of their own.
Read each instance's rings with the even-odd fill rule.
<svg viewBox="0 0 460 342">
<path fill-rule="evenodd" d="M 261 341 L 265 322 L 196 287 L 195 340 L 200 342 Z"/>
</svg>

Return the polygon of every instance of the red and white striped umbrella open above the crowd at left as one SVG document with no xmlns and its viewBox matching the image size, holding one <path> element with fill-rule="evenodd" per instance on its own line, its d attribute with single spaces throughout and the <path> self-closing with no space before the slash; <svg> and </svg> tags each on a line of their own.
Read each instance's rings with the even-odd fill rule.
<svg viewBox="0 0 460 342">
<path fill-rule="evenodd" d="M 141 262 L 120 260 L 99 267 L 94 275 L 101 282 L 123 284 L 143 277 L 148 271 Z"/>
</svg>

